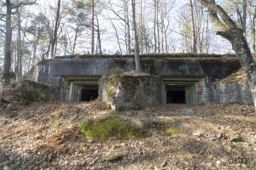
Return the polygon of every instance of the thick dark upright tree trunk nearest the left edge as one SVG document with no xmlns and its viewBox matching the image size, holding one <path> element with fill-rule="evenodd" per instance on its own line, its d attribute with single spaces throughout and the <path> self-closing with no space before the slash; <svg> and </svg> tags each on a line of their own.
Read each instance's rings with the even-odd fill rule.
<svg viewBox="0 0 256 170">
<path fill-rule="evenodd" d="M 6 32 L 4 44 L 4 63 L 3 63 L 3 85 L 9 85 L 11 69 L 11 46 L 12 46 L 12 10 L 10 0 L 6 0 Z"/>
</svg>

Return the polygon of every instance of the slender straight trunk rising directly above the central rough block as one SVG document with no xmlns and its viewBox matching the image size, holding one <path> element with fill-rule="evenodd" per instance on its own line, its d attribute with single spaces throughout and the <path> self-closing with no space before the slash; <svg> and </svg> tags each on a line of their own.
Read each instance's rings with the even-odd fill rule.
<svg viewBox="0 0 256 170">
<path fill-rule="evenodd" d="M 135 6 L 136 0 L 131 0 L 131 8 L 132 8 L 132 25 L 133 25 L 133 31 L 134 31 L 134 55 L 135 55 L 135 68 L 137 72 L 141 72 L 141 62 L 140 62 L 140 56 L 139 56 L 139 43 L 137 38 L 137 24 L 136 24 L 136 6 Z"/>
</svg>

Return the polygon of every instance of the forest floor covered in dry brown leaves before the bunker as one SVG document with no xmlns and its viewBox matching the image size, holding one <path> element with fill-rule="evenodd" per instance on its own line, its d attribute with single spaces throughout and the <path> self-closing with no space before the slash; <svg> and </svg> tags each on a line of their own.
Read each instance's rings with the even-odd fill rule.
<svg viewBox="0 0 256 170">
<path fill-rule="evenodd" d="M 256 169 L 250 105 L 166 105 L 122 112 L 152 122 L 144 139 L 86 139 L 79 124 L 109 114 L 101 102 L 0 106 L 0 169 Z M 166 135 L 157 123 L 179 133 Z M 146 127 L 145 127 L 146 128 Z"/>
</svg>

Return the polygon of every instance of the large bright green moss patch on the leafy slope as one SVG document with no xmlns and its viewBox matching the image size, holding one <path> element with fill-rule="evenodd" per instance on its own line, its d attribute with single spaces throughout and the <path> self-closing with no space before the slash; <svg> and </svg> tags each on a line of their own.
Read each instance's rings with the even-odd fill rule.
<svg viewBox="0 0 256 170">
<path fill-rule="evenodd" d="M 102 120 L 85 122 L 80 127 L 84 137 L 105 142 L 108 139 L 138 139 L 143 137 L 143 132 L 131 123 L 119 117 L 108 117 Z"/>
</svg>

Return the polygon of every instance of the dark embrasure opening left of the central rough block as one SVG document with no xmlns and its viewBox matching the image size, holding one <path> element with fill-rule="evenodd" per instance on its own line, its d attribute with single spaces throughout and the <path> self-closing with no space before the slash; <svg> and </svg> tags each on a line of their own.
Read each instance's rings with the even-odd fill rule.
<svg viewBox="0 0 256 170">
<path fill-rule="evenodd" d="M 81 93 L 81 101 L 93 101 L 98 98 L 98 88 L 93 86 L 84 86 Z"/>
</svg>

